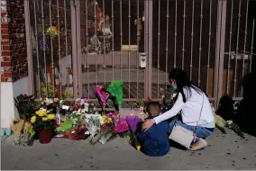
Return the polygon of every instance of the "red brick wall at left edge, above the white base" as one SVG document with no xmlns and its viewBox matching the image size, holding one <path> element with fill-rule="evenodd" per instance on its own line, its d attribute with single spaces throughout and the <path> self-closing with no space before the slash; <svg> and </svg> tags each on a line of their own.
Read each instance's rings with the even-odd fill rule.
<svg viewBox="0 0 256 171">
<path fill-rule="evenodd" d="M 28 76 L 23 0 L 1 0 L 1 82 Z"/>
</svg>

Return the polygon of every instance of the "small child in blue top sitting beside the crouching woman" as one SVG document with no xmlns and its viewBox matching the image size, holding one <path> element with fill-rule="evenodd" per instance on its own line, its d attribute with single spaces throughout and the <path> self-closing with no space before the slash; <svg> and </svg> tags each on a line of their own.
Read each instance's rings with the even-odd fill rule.
<svg viewBox="0 0 256 171">
<path fill-rule="evenodd" d="M 147 105 L 147 119 L 152 119 L 160 115 L 160 103 L 151 102 Z M 149 130 L 141 130 L 137 134 L 137 138 L 142 143 L 142 152 L 151 157 L 164 156 L 169 152 L 169 124 L 167 121 L 162 121 L 159 124 L 154 124 Z"/>
</svg>

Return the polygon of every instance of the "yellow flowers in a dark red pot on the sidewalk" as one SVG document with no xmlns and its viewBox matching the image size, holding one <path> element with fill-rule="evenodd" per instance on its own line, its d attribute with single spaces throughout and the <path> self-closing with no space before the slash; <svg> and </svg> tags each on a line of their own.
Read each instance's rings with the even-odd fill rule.
<svg viewBox="0 0 256 171">
<path fill-rule="evenodd" d="M 38 131 L 38 138 L 41 144 L 50 142 L 55 126 L 55 114 L 52 111 L 40 109 L 32 116 L 33 128 Z"/>
</svg>

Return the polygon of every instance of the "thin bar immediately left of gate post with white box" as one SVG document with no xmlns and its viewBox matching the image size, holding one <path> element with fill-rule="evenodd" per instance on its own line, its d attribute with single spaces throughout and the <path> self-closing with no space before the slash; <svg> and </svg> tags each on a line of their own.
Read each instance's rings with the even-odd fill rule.
<svg viewBox="0 0 256 171">
<path fill-rule="evenodd" d="M 139 58 L 139 49 L 140 49 L 140 32 L 139 32 L 139 20 L 140 20 L 140 0 L 137 0 L 137 93 L 136 93 L 136 97 L 137 99 L 139 98 L 139 69 L 140 69 L 140 58 Z M 142 21 L 141 21 L 142 24 Z"/>
</svg>

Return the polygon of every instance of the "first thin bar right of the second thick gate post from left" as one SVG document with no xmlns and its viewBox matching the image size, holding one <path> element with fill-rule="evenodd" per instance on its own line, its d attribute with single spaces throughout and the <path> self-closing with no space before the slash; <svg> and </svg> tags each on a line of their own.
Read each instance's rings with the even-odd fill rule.
<svg viewBox="0 0 256 171">
<path fill-rule="evenodd" d="M 87 3 L 88 3 L 88 0 L 86 0 L 86 24 L 87 24 L 87 34 L 86 34 L 86 39 L 87 39 L 87 91 L 88 91 L 88 97 L 87 99 L 90 99 L 90 75 L 89 75 L 89 61 L 88 61 L 88 45 L 89 45 L 89 40 L 88 40 L 88 7 L 87 7 Z"/>
</svg>

